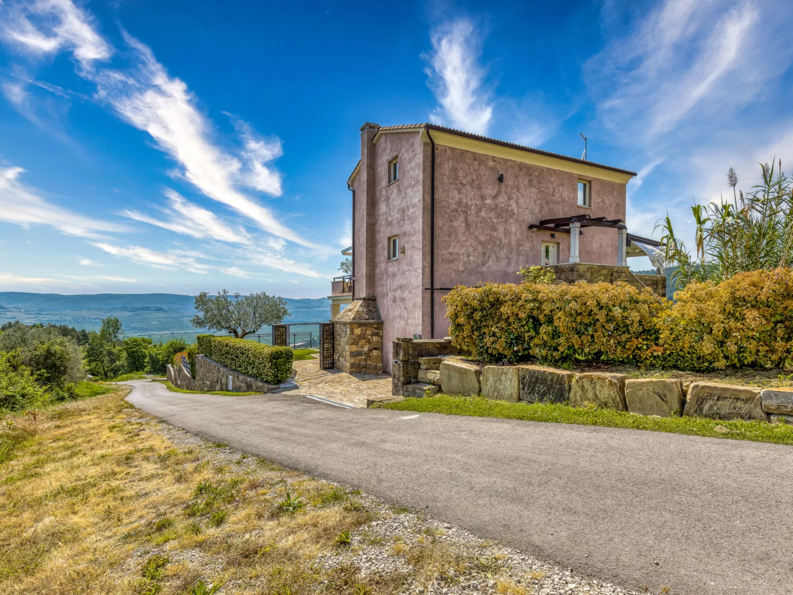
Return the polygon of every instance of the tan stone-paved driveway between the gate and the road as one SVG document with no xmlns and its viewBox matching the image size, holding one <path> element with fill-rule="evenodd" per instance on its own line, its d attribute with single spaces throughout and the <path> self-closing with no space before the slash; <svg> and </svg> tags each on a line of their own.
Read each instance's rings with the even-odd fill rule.
<svg viewBox="0 0 793 595">
<path fill-rule="evenodd" d="M 297 396 L 322 397 L 344 405 L 366 408 L 371 403 L 401 401 L 391 394 L 389 374 L 344 374 L 339 370 L 320 370 L 318 359 L 293 363 L 297 388 L 284 391 Z"/>
</svg>

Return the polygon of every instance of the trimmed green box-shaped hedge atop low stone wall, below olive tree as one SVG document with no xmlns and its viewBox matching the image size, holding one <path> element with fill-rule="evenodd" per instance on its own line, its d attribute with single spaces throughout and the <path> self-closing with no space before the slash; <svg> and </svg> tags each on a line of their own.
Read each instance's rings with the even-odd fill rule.
<svg viewBox="0 0 793 595">
<path fill-rule="evenodd" d="M 292 375 L 292 350 L 289 347 L 272 347 L 255 341 L 217 336 L 212 337 L 210 347 L 212 355 L 204 352 L 210 359 L 264 382 L 281 384 Z M 198 351 L 201 351 L 201 344 Z"/>
</svg>

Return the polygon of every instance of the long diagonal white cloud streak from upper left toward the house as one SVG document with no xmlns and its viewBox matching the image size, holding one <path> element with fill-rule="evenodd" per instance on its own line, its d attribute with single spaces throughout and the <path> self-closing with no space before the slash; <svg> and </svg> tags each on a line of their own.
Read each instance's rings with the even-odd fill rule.
<svg viewBox="0 0 793 595">
<path fill-rule="evenodd" d="M 186 83 L 170 76 L 140 40 L 122 30 L 131 50 L 132 64 L 128 69 L 99 63 L 113 55 L 113 47 L 97 33 L 90 14 L 71 0 L 0 3 L 0 10 L 6 17 L 2 36 L 7 42 L 36 56 L 71 52 L 80 64 L 78 74 L 97 86 L 96 98 L 129 125 L 147 132 L 156 146 L 178 163 L 177 175 L 202 194 L 236 210 L 266 233 L 307 248 L 321 248 L 283 225 L 272 209 L 240 190 L 282 194 L 281 175 L 271 163 L 282 154 L 278 138 L 263 137 L 251 125 L 239 121 L 239 148 L 222 148 L 213 140 L 213 125 L 197 109 L 197 100 Z M 6 94 L 21 101 L 23 90 L 9 87 Z M 177 206 L 191 208 L 184 201 Z M 174 210 L 173 201 L 170 209 Z M 214 232 L 205 228 L 212 215 L 207 213 L 206 209 L 201 213 L 192 209 L 194 217 L 186 232 L 212 237 L 228 232 L 219 225 L 214 226 Z M 136 218 L 152 222 L 151 217 L 144 215 Z M 168 225 L 174 227 L 173 221 L 161 226 Z"/>
</svg>

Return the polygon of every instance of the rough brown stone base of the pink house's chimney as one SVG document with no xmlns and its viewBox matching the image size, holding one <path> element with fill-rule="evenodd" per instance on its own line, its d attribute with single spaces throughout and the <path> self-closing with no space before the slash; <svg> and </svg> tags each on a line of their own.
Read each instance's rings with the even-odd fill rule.
<svg viewBox="0 0 793 595">
<path fill-rule="evenodd" d="M 336 370 L 347 374 L 382 374 L 383 319 L 374 298 L 355 300 L 333 319 Z"/>
</svg>

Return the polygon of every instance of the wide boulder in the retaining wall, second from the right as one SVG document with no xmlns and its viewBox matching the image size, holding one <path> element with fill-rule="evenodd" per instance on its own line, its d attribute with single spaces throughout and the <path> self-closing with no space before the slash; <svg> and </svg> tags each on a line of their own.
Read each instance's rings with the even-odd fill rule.
<svg viewBox="0 0 793 595">
<path fill-rule="evenodd" d="M 683 414 L 717 420 L 768 420 L 760 400 L 760 389 L 711 382 L 691 385 Z"/>
</svg>

